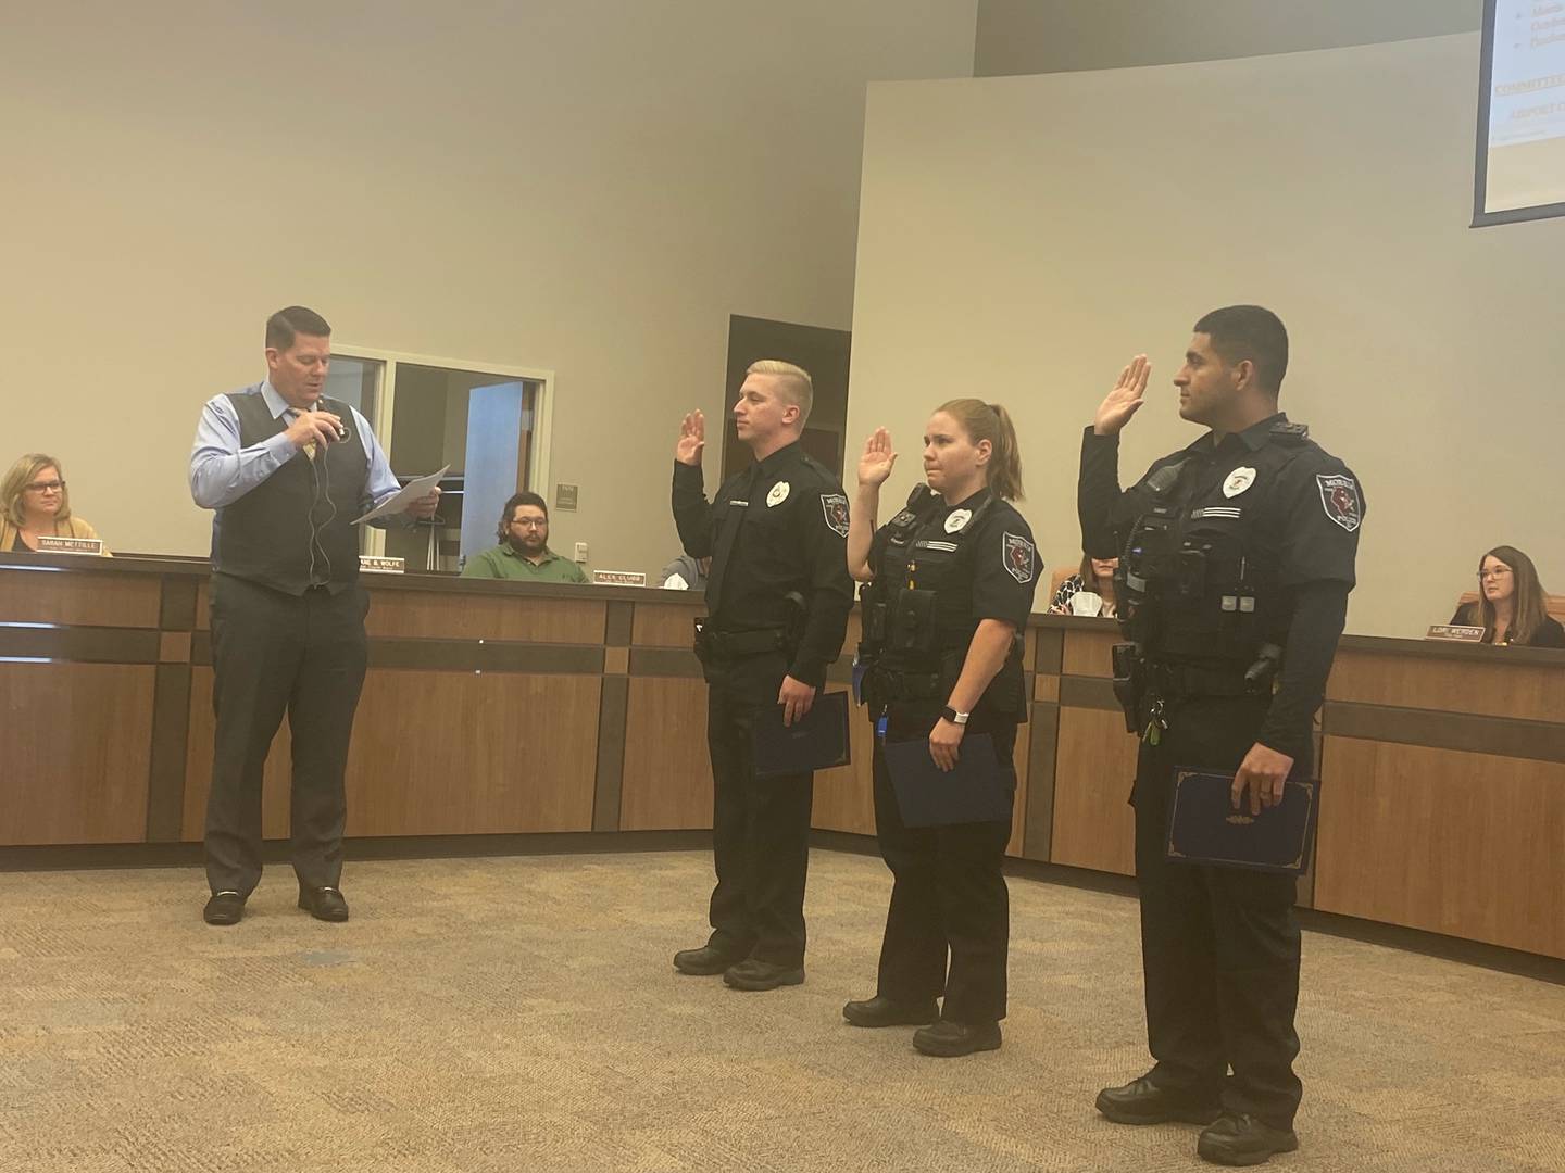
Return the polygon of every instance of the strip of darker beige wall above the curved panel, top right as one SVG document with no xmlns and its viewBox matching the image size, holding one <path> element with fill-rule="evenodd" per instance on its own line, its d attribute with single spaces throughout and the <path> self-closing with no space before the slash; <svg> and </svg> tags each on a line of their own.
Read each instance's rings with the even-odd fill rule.
<svg viewBox="0 0 1565 1173">
<path fill-rule="evenodd" d="M 981 0 L 973 77 L 1412 41 L 1482 14 L 1482 0 Z"/>
</svg>

